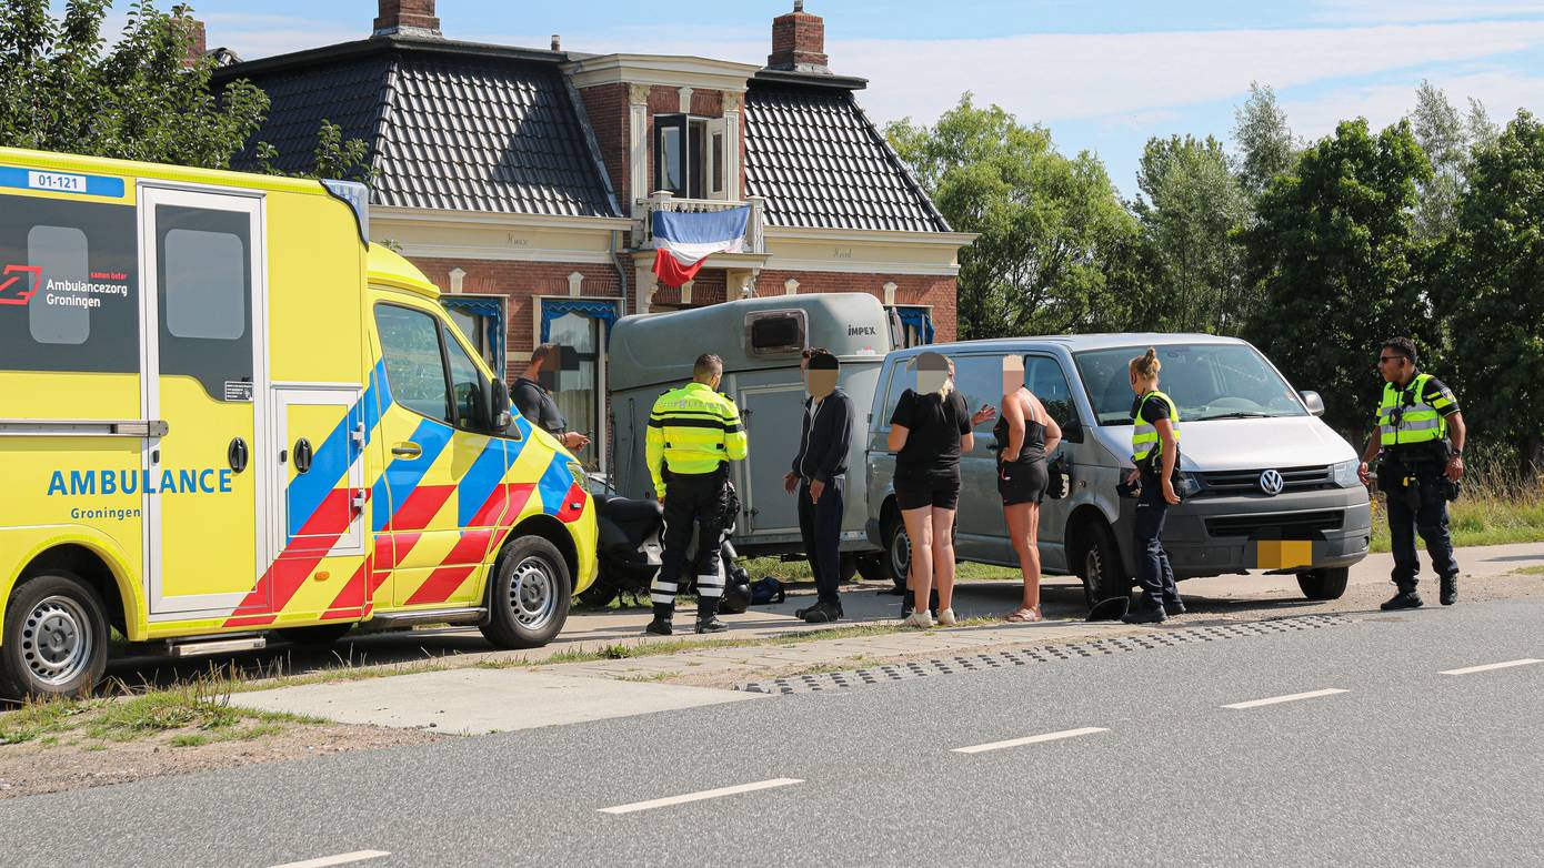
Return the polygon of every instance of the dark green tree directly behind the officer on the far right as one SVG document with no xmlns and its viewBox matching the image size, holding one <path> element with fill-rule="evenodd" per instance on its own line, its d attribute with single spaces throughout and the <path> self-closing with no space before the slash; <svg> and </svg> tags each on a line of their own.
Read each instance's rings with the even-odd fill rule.
<svg viewBox="0 0 1544 868">
<path fill-rule="evenodd" d="M 1348 120 L 1271 182 L 1240 234 L 1261 293 L 1246 336 L 1297 387 L 1320 390 L 1328 421 L 1356 438 L 1380 389 L 1377 342 L 1431 342 L 1411 216 L 1430 176 L 1407 122 L 1374 137 L 1365 119 Z"/>
</svg>

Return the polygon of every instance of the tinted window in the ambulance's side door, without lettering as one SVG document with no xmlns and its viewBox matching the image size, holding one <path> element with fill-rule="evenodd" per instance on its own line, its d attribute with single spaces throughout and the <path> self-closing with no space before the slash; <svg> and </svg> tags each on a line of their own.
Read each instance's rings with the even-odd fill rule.
<svg viewBox="0 0 1544 868">
<path fill-rule="evenodd" d="M 156 205 L 161 373 L 191 376 L 216 401 L 253 378 L 250 236 L 244 213 Z"/>
</svg>

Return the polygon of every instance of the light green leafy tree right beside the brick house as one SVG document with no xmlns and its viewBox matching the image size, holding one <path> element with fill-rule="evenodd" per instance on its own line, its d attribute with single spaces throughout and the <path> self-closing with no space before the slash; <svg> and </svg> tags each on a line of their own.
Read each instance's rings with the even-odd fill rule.
<svg viewBox="0 0 1544 868">
<path fill-rule="evenodd" d="M 886 136 L 950 224 L 980 233 L 960 251 L 962 338 L 1127 322 L 1116 256 L 1130 253 L 1138 227 L 1098 157 L 1064 157 L 1044 126 L 977 108 L 971 94 L 933 126 L 905 119 Z"/>
</svg>

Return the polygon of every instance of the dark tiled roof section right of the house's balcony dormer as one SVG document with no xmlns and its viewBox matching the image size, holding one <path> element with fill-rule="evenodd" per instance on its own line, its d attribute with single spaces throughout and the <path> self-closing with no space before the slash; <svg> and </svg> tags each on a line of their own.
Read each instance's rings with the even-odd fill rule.
<svg viewBox="0 0 1544 868">
<path fill-rule="evenodd" d="M 767 199 L 767 224 L 951 231 L 851 88 L 792 79 L 763 72 L 746 93 L 746 194 Z"/>
</svg>

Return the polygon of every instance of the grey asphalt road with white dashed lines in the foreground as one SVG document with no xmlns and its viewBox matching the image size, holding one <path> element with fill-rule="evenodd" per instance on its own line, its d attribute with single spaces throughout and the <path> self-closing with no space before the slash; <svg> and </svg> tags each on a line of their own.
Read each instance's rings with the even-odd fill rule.
<svg viewBox="0 0 1544 868">
<path fill-rule="evenodd" d="M 1544 658 L 1544 598 L 1363 618 L 14 799 L 0 860 L 1538 863 L 1544 663 L 1444 672 Z"/>
</svg>

